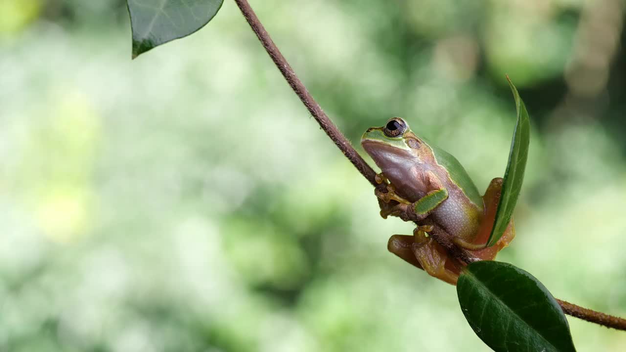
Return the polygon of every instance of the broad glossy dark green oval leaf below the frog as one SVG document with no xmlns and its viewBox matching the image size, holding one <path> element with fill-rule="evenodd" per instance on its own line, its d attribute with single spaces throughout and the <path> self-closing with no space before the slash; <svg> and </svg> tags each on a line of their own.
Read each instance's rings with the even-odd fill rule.
<svg viewBox="0 0 626 352">
<path fill-rule="evenodd" d="M 511 264 L 469 264 L 456 284 L 469 325 L 495 351 L 575 351 L 557 301 L 535 277 Z"/>
</svg>

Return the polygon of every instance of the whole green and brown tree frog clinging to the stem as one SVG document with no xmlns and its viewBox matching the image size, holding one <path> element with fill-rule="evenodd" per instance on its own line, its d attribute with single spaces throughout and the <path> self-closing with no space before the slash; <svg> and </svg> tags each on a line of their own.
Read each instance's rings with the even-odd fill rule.
<svg viewBox="0 0 626 352">
<path fill-rule="evenodd" d="M 463 263 L 448 249 L 461 248 L 468 257 L 492 260 L 515 237 L 511 219 L 495 246 L 486 247 L 503 179 L 491 180 L 481 196 L 456 158 L 418 137 L 402 118 L 368 128 L 361 145 L 381 168 L 376 182 L 386 187 L 375 191 L 381 216 L 398 216 L 418 225 L 413 236 L 394 235 L 387 244 L 404 261 L 454 285 Z"/>
</svg>

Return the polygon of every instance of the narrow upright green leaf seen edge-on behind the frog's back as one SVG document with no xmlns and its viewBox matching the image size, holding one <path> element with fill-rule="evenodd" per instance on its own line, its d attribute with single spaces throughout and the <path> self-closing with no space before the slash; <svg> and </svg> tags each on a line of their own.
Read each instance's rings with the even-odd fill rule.
<svg viewBox="0 0 626 352">
<path fill-rule="evenodd" d="M 530 143 L 530 118 L 528 118 L 528 111 L 526 111 L 524 102 L 508 76 L 506 79 L 509 81 L 513 97 L 515 98 L 517 123 L 513 131 L 511 152 L 506 165 L 500 203 L 498 203 L 496 219 L 491 229 L 487 246 L 493 246 L 498 242 L 505 233 L 511 217 L 513 217 L 513 209 L 515 209 L 517 199 L 520 197 L 521 184 L 524 180 L 524 170 L 526 169 L 526 159 L 528 158 L 528 144 Z"/>
</svg>

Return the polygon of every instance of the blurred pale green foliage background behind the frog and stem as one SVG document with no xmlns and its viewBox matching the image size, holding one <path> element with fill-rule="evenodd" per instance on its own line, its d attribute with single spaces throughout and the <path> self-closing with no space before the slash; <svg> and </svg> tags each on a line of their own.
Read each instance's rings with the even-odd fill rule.
<svg viewBox="0 0 626 352">
<path fill-rule="evenodd" d="M 533 130 L 498 258 L 626 316 L 622 1 L 252 6 L 355 145 L 404 116 L 481 191 L 510 75 Z M 130 52 L 125 1 L 0 0 L 0 351 L 488 350 L 453 286 L 387 252 L 411 225 L 378 216 L 233 1 Z M 626 350 L 568 319 L 579 351 Z"/>
</svg>

